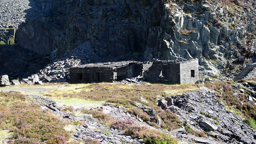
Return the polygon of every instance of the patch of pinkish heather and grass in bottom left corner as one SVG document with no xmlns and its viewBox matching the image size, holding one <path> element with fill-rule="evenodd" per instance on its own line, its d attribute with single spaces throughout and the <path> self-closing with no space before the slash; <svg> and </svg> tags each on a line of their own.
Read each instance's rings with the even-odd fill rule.
<svg viewBox="0 0 256 144">
<path fill-rule="evenodd" d="M 63 144 L 70 138 L 64 126 L 48 110 L 26 102 L 20 92 L 0 92 L 0 130 L 12 132 L 10 144 Z"/>
</svg>

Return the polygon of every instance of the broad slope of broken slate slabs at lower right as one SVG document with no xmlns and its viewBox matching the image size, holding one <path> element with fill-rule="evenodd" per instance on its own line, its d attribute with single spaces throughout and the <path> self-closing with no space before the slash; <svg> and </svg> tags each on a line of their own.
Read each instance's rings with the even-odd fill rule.
<svg viewBox="0 0 256 144">
<path fill-rule="evenodd" d="M 182 96 L 159 100 L 158 105 L 162 109 L 175 112 L 184 126 L 190 126 L 198 132 L 208 132 L 208 139 L 187 134 L 184 129 L 180 132 L 174 130 L 173 134 L 179 136 L 180 139 L 188 138 L 198 143 L 218 144 L 214 141 L 215 138 L 225 143 L 255 144 L 256 135 L 253 128 L 243 124 L 240 117 L 226 110 L 224 104 L 216 100 L 214 93 L 206 88 L 202 89 Z"/>
</svg>

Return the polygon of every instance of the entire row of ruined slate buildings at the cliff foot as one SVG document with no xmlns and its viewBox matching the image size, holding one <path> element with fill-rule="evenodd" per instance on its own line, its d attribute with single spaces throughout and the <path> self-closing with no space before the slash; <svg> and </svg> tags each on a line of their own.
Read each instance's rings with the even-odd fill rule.
<svg viewBox="0 0 256 144">
<path fill-rule="evenodd" d="M 70 68 L 70 83 L 113 82 L 139 75 L 146 82 L 195 83 L 199 78 L 198 59 L 85 64 Z"/>
</svg>

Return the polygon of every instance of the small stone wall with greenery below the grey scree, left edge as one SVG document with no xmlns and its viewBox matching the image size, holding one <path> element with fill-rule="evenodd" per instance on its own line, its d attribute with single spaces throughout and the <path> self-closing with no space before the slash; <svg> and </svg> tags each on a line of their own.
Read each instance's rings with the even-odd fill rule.
<svg viewBox="0 0 256 144">
<path fill-rule="evenodd" d="M 0 28 L 0 41 L 3 41 L 5 44 L 11 44 L 11 38 L 15 39 L 15 28 Z"/>
</svg>

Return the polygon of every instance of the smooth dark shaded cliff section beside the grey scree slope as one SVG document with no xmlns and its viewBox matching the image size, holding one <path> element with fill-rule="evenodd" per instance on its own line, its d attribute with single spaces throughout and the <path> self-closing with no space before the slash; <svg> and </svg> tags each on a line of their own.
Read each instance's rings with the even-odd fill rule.
<svg viewBox="0 0 256 144">
<path fill-rule="evenodd" d="M 39 18 L 27 19 L 18 26 L 16 42 L 38 54 L 50 55 L 54 38 L 63 31 L 76 3 L 75 0 L 35 0 L 34 6 L 44 14 Z"/>
</svg>

